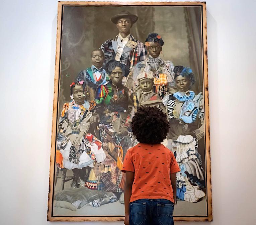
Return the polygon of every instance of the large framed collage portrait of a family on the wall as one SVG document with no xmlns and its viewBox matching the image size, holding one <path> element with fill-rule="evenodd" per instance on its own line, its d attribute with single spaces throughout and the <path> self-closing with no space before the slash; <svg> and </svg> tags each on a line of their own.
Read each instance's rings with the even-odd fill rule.
<svg viewBox="0 0 256 225">
<path fill-rule="evenodd" d="M 48 221 L 123 221 L 142 106 L 170 122 L 174 220 L 212 221 L 205 2 L 59 2 Z"/>
</svg>

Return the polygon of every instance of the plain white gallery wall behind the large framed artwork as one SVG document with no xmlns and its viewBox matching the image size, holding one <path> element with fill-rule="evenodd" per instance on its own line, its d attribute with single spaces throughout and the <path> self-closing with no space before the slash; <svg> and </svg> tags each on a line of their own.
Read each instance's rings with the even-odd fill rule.
<svg viewBox="0 0 256 225">
<path fill-rule="evenodd" d="M 0 3 L 0 224 L 64 224 L 46 221 L 58 1 Z M 213 222 L 176 224 L 254 225 L 256 1 L 206 8 Z"/>
</svg>

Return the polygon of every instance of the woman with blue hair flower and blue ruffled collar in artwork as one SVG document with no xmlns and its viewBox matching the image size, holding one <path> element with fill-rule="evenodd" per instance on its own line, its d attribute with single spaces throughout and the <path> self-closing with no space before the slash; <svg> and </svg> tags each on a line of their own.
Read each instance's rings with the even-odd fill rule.
<svg viewBox="0 0 256 225">
<path fill-rule="evenodd" d="M 205 181 L 198 153 L 198 140 L 204 135 L 204 104 L 202 92 L 195 95 L 190 88 L 195 77 L 190 68 L 174 67 L 178 92 L 165 96 L 170 129 L 167 138 L 172 141 L 172 151 L 180 166 L 177 174 L 177 198 L 197 202 L 205 196 L 201 190 Z"/>
</svg>

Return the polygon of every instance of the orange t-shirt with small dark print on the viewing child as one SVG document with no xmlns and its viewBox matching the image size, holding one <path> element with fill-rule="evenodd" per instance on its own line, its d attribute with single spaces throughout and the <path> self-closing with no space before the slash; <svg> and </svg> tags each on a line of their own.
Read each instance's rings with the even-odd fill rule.
<svg viewBox="0 0 256 225">
<path fill-rule="evenodd" d="M 130 202 L 138 199 L 167 199 L 172 202 L 170 174 L 180 171 L 174 154 L 163 144 L 139 143 L 127 150 L 122 172 L 134 172 Z"/>
</svg>

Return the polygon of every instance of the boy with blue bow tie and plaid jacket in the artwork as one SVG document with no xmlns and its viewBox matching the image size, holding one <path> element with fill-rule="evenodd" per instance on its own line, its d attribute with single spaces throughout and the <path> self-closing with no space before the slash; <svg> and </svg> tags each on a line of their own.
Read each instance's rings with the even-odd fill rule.
<svg viewBox="0 0 256 225">
<path fill-rule="evenodd" d="M 105 84 L 109 77 L 102 65 L 104 62 L 104 53 L 100 49 L 91 52 L 92 66 L 86 70 L 80 71 L 76 81 L 84 81 L 83 88 L 86 90 L 87 100 L 90 102 L 95 98 L 95 91 L 98 86 Z"/>
</svg>

